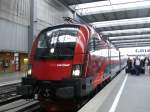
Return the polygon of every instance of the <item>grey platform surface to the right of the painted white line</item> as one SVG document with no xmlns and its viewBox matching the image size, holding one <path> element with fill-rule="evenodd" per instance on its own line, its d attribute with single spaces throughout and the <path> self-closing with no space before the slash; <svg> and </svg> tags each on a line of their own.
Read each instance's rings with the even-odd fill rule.
<svg viewBox="0 0 150 112">
<path fill-rule="evenodd" d="M 150 112 L 150 76 L 129 75 L 116 112 Z"/>
</svg>

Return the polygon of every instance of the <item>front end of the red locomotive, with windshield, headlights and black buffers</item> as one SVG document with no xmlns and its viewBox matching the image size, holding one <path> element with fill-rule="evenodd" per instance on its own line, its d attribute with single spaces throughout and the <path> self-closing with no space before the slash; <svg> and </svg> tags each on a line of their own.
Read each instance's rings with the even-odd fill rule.
<svg viewBox="0 0 150 112">
<path fill-rule="evenodd" d="M 84 33 L 86 30 L 79 25 L 43 30 L 33 44 L 19 94 L 25 98 L 70 99 L 91 91 L 92 87 L 87 86 L 91 78 L 84 78 Z"/>
</svg>

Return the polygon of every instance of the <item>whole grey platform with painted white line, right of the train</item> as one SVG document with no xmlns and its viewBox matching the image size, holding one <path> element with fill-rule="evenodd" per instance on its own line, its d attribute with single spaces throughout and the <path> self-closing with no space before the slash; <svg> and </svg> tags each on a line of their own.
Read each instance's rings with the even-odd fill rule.
<svg viewBox="0 0 150 112">
<path fill-rule="evenodd" d="M 150 76 L 122 71 L 78 112 L 150 112 Z"/>
</svg>

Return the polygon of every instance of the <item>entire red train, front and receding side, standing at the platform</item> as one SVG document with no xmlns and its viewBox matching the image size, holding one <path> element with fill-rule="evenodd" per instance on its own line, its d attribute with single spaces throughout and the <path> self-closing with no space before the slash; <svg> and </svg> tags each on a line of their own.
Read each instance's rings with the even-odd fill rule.
<svg viewBox="0 0 150 112">
<path fill-rule="evenodd" d="M 58 25 L 41 31 L 33 42 L 27 77 L 18 91 L 26 98 L 80 98 L 119 70 L 119 52 L 93 28 Z"/>
</svg>

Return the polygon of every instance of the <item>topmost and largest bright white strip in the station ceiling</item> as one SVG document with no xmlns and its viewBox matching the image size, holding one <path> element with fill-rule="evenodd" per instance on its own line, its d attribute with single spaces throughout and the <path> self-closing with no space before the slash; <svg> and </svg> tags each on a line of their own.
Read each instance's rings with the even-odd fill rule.
<svg viewBox="0 0 150 112">
<path fill-rule="evenodd" d="M 108 12 L 135 10 L 135 9 L 142 9 L 142 8 L 149 8 L 149 7 L 150 7 L 150 1 L 141 1 L 141 0 L 136 0 L 136 1 L 128 0 L 125 2 L 120 2 L 120 1 L 115 2 L 115 0 L 113 0 L 111 1 L 111 4 L 108 1 L 101 1 L 101 2 L 70 6 L 70 8 L 75 10 L 81 16 L 108 13 Z"/>
</svg>

